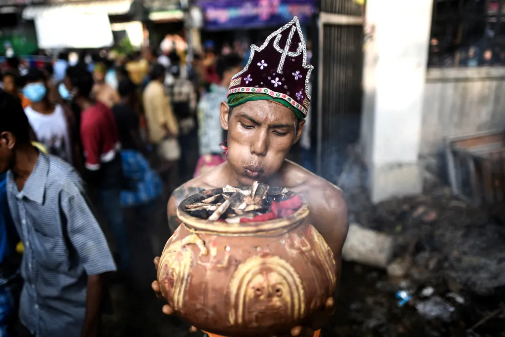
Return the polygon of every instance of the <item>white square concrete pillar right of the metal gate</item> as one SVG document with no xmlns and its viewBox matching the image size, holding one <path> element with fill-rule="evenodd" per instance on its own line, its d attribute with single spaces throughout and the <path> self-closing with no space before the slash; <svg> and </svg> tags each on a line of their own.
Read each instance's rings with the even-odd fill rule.
<svg viewBox="0 0 505 337">
<path fill-rule="evenodd" d="M 433 0 L 367 0 L 361 141 L 372 202 L 422 191 L 418 162 Z"/>
</svg>

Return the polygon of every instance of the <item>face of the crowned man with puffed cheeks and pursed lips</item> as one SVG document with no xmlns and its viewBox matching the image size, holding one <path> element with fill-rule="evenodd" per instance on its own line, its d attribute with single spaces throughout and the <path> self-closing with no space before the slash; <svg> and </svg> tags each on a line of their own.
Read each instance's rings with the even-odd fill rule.
<svg viewBox="0 0 505 337">
<path fill-rule="evenodd" d="M 233 108 L 221 103 L 221 126 L 228 131 L 228 162 L 238 182 L 265 181 L 280 169 L 304 127 L 294 113 L 271 101 L 246 102 Z"/>
</svg>

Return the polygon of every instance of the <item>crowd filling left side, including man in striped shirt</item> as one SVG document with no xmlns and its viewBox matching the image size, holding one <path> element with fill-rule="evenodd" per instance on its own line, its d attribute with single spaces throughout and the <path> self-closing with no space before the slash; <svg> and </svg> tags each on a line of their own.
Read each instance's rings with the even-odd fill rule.
<svg viewBox="0 0 505 337">
<path fill-rule="evenodd" d="M 148 217 L 157 200 L 225 161 L 219 107 L 244 56 L 218 56 L 206 45 L 190 63 L 154 49 L 106 58 L 60 53 L 27 69 L 7 59 L 0 335 L 96 335 L 104 275 L 131 272 L 125 208 Z"/>
</svg>

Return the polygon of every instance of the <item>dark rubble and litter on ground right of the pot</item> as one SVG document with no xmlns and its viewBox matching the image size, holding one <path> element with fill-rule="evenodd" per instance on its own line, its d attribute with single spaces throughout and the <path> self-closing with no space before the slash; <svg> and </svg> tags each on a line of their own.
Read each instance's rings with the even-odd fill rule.
<svg viewBox="0 0 505 337">
<path fill-rule="evenodd" d="M 440 185 L 378 205 L 366 190 L 346 197 L 350 221 L 391 237 L 393 253 L 379 269 L 343 263 L 328 335 L 505 337 L 504 205 L 472 207 Z"/>
</svg>

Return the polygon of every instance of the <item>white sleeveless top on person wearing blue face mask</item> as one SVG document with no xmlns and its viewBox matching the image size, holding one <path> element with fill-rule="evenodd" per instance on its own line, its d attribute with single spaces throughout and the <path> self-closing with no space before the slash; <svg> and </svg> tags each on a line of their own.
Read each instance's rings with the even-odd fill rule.
<svg viewBox="0 0 505 337">
<path fill-rule="evenodd" d="M 57 104 L 52 114 L 41 114 L 28 106 L 25 108 L 25 114 L 38 142 L 45 146 L 47 153 L 72 164 L 72 145 L 62 106 Z"/>
</svg>

